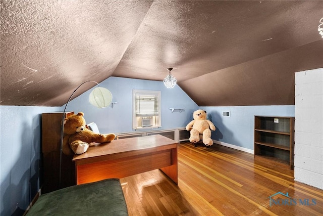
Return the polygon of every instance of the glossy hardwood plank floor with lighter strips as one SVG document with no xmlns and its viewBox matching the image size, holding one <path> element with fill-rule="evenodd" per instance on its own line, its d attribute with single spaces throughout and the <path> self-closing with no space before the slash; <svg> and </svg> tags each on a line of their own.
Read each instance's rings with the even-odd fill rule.
<svg viewBox="0 0 323 216">
<path fill-rule="evenodd" d="M 129 215 L 323 215 L 323 191 L 293 170 L 216 144 L 179 144 L 178 185 L 158 169 L 121 183 Z"/>
</svg>

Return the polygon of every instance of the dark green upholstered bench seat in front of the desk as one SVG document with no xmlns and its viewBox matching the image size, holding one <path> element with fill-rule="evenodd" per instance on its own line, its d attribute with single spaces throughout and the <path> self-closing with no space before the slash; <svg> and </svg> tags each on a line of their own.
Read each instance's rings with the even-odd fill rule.
<svg viewBox="0 0 323 216">
<path fill-rule="evenodd" d="M 32 215 L 128 215 L 119 179 L 75 185 L 39 196 Z"/>
</svg>

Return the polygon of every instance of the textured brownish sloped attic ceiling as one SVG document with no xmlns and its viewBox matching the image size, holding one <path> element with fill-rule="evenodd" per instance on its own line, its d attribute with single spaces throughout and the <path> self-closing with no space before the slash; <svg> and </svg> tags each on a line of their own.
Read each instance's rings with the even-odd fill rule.
<svg viewBox="0 0 323 216">
<path fill-rule="evenodd" d="M 169 67 L 200 106 L 293 105 L 294 73 L 323 67 L 323 1 L 4 0 L 1 10 L 1 105 L 62 106 L 86 80 L 161 81 Z"/>
</svg>

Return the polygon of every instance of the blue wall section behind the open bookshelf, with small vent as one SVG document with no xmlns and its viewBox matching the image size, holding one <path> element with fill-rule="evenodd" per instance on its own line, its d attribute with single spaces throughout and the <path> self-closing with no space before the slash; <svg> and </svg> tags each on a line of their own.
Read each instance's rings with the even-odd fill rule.
<svg viewBox="0 0 323 216">
<path fill-rule="evenodd" d="M 295 106 L 200 107 L 217 127 L 212 139 L 253 150 L 254 116 L 295 116 Z M 231 116 L 223 116 L 229 111 Z"/>
</svg>

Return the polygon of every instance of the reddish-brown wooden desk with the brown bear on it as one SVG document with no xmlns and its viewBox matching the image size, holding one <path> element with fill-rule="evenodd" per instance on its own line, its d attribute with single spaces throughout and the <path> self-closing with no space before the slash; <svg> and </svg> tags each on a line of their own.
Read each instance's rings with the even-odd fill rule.
<svg viewBox="0 0 323 216">
<path fill-rule="evenodd" d="M 75 155 L 78 185 L 160 169 L 177 184 L 177 143 L 161 135 L 113 140 Z"/>
</svg>

